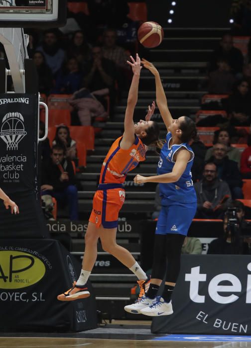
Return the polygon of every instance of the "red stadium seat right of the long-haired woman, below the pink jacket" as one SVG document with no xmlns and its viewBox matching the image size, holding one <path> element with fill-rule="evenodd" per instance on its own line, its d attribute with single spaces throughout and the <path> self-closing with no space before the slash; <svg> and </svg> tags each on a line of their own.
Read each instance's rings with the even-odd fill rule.
<svg viewBox="0 0 251 348">
<path fill-rule="evenodd" d="M 71 138 L 85 144 L 86 150 L 94 150 L 94 128 L 92 126 L 70 126 Z"/>
</svg>

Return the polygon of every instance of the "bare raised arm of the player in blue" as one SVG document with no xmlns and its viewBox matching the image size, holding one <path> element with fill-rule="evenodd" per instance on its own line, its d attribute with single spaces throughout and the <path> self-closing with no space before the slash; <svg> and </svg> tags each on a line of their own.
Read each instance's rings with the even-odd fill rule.
<svg viewBox="0 0 251 348">
<path fill-rule="evenodd" d="M 164 88 L 160 80 L 159 72 L 157 71 L 157 69 L 154 67 L 152 63 L 148 62 L 145 59 L 142 59 L 142 64 L 144 68 L 148 69 L 155 76 L 156 102 L 157 102 L 161 117 L 166 125 L 166 128 L 168 128 L 173 118 L 167 106 L 167 99 L 165 96 Z"/>
</svg>

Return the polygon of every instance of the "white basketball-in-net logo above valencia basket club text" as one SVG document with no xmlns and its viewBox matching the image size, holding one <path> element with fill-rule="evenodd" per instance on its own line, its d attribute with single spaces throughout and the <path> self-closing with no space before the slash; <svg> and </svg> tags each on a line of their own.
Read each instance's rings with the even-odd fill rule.
<svg viewBox="0 0 251 348">
<path fill-rule="evenodd" d="M 17 150 L 18 143 L 27 134 L 23 122 L 19 112 L 8 112 L 3 116 L 0 138 L 7 145 L 7 150 Z"/>
</svg>

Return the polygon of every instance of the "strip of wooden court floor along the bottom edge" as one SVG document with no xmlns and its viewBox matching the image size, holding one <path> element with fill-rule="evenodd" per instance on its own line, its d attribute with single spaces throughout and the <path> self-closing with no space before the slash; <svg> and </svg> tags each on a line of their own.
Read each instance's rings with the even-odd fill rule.
<svg viewBox="0 0 251 348">
<path fill-rule="evenodd" d="M 55 335 L 56 336 L 56 335 Z M 12 348 L 249 348 L 249 342 L 167 342 L 53 337 L 0 337 L 0 347 Z"/>
</svg>

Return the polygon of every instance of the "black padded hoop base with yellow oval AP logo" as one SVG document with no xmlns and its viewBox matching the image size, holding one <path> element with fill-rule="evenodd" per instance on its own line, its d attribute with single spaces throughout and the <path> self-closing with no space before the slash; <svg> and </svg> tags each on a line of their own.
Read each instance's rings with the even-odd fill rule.
<svg viewBox="0 0 251 348">
<path fill-rule="evenodd" d="M 0 328 L 10 330 L 83 331 L 96 328 L 96 301 L 91 296 L 62 302 L 81 264 L 55 240 L 0 240 Z"/>
</svg>

